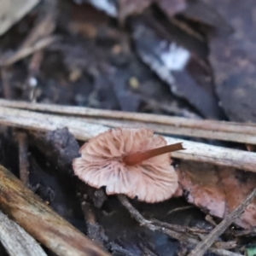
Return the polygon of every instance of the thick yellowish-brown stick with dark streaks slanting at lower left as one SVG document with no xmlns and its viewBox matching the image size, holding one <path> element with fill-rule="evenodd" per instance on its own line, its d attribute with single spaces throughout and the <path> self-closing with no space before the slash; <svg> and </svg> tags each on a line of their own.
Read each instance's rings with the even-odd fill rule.
<svg viewBox="0 0 256 256">
<path fill-rule="evenodd" d="M 0 166 L 0 207 L 57 255 L 109 255 L 53 212 L 3 166 Z"/>
</svg>

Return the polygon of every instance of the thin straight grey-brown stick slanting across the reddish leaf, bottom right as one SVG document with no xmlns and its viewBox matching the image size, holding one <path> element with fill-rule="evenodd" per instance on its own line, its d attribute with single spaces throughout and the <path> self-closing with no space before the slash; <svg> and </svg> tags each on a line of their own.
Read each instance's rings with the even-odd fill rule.
<svg viewBox="0 0 256 256">
<path fill-rule="evenodd" d="M 213 242 L 218 239 L 218 236 L 221 236 L 224 233 L 235 218 L 239 217 L 246 207 L 253 201 L 253 198 L 256 195 L 256 189 L 253 189 L 253 192 L 247 196 L 247 198 L 241 202 L 241 204 L 236 207 L 236 209 L 231 212 L 224 220 L 212 230 L 212 232 L 207 235 L 203 241 L 201 241 L 190 253 L 188 256 L 201 256 L 203 255 L 209 247 L 212 246 Z"/>
</svg>

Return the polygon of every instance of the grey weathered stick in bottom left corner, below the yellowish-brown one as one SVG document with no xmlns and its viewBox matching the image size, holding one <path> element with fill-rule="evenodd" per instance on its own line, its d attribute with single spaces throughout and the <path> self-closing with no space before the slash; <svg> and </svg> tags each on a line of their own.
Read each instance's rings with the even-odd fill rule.
<svg viewBox="0 0 256 256">
<path fill-rule="evenodd" d="M 10 256 L 47 256 L 32 236 L 1 211 L 0 241 Z"/>
</svg>

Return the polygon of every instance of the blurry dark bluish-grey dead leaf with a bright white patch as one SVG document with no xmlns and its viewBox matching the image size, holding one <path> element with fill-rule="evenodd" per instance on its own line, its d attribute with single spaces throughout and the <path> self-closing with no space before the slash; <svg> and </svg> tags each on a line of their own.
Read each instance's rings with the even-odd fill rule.
<svg viewBox="0 0 256 256">
<path fill-rule="evenodd" d="M 165 81 L 176 96 L 186 99 L 203 116 L 223 119 L 224 114 L 215 96 L 212 73 L 202 56 L 204 45 L 189 35 L 169 31 L 150 17 L 140 17 L 132 24 L 138 55 Z M 179 44 L 186 38 L 186 46 Z M 201 49 L 193 48 L 193 45 Z"/>
</svg>

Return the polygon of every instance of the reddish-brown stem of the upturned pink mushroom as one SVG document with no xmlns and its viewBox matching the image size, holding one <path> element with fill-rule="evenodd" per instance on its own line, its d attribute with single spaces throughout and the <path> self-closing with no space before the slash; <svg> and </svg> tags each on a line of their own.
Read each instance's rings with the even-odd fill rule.
<svg viewBox="0 0 256 256">
<path fill-rule="evenodd" d="M 125 155 L 125 157 L 123 158 L 123 161 L 127 166 L 134 166 L 154 156 L 170 153 L 170 152 L 181 150 L 181 149 L 185 149 L 183 148 L 182 143 L 176 143 L 176 144 L 167 145 L 160 148 L 149 149 L 148 151 L 144 151 L 144 152 Z"/>
</svg>

